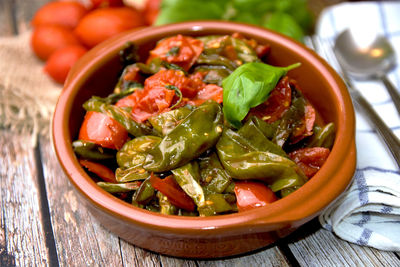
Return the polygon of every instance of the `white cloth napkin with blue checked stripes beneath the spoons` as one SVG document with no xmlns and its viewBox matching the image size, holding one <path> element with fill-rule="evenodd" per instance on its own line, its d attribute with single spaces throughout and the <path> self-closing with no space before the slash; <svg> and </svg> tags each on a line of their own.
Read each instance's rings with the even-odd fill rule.
<svg viewBox="0 0 400 267">
<path fill-rule="evenodd" d="M 357 2 L 332 6 L 317 23 L 321 56 L 337 68 L 327 49 L 345 29 L 374 31 L 389 38 L 400 64 L 400 2 Z M 400 66 L 388 73 L 400 88 Z M 400 137 L 400 117 L 379 81 L 352 81 Z M 381 250 L 400 251 L 400 172 L 369 121 L 356 110 L 357 170 L 350 188 L 320 215 L 321 225 L 340 238 Z"/>
</svg>

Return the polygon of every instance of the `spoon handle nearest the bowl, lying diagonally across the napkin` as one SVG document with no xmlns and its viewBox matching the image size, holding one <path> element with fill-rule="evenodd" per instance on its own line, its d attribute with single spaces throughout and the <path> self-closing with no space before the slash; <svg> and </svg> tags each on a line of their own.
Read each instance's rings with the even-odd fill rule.
<svg viewBox="0 0 400 267">
<path fill-rule="evenodd" d="M 350 84 L 348 84 L 350 87 Z M 358 92 L 356 89 L 349 90 L 351 97 L 356 105 L 361 108 L 364 114 L 375 125 L 377 132 L 385 141 L 387 147 L 393 155 L 397 166 L 400 168 L 400 140 L 392 132 L 392 130 L 385 124 L 385 122 L 378 116 L 371 104 Z"/>
</svg>

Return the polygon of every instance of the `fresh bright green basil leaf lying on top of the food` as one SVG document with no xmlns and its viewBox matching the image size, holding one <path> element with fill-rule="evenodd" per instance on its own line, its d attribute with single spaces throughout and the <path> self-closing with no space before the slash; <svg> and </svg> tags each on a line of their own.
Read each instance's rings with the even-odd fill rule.
<svg viewBox="0 0 400 267">
<path fill-rule="evenodd" d="M 295 63 L 287 67 L 275 67 L 260 62 L 243 64 L 222 81 L 223 112 L 226 120 L 235 128 L 250 108 L 267 100 L 269 93 L 286 73 L 298 67 Z"/>
</svg>

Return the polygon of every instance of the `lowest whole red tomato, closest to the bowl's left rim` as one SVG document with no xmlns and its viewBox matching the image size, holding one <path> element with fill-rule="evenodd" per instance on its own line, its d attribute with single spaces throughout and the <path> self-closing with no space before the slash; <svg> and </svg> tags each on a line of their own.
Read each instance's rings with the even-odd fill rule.
<svg viewBox="0 0 400 267">
<path fill-rule="evenodd" d="M 58 49 L 46 61 L 44 67 L 54 81 L 62 84 L 68 76 L 72 66 L 87 52 L 81 45 L 71 45 Z"/>
</svg>

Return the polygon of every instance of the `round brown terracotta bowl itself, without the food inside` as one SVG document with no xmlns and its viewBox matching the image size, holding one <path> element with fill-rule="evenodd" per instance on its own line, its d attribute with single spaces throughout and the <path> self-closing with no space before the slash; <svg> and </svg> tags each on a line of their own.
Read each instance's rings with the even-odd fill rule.
<svg viewBox="0 0 400 267">
<path fill-rule="evenodd" d="M 207 218 L 160 215 L 125 203 L 103 191 L 79 165 L 71 143 L 84 116 L 82 104 L 92 95 L 113 90 L 121 69 L 118 51 L 127 41 L 139 46 L 144 60 L 155 43 L 176 34 L 191 36 L 242 33 L 272 47 L 269 63 L 286 66 L 326 122 L 336 124 L 331 154 L 303 187 L 273 204 L 251 211 Z M 267 246 L 316 217 L 348 186 L 355 170 L 355 119 L 345 85 L 335 71 L 302 44 L 266 29 L 228 22 L 188 22 L 126 32 L 88 52 L 68 77 L 53 122 L 58 159 L 100 223 L 139 247 L 185 258 L 237 255 Z"/>
</svg>

